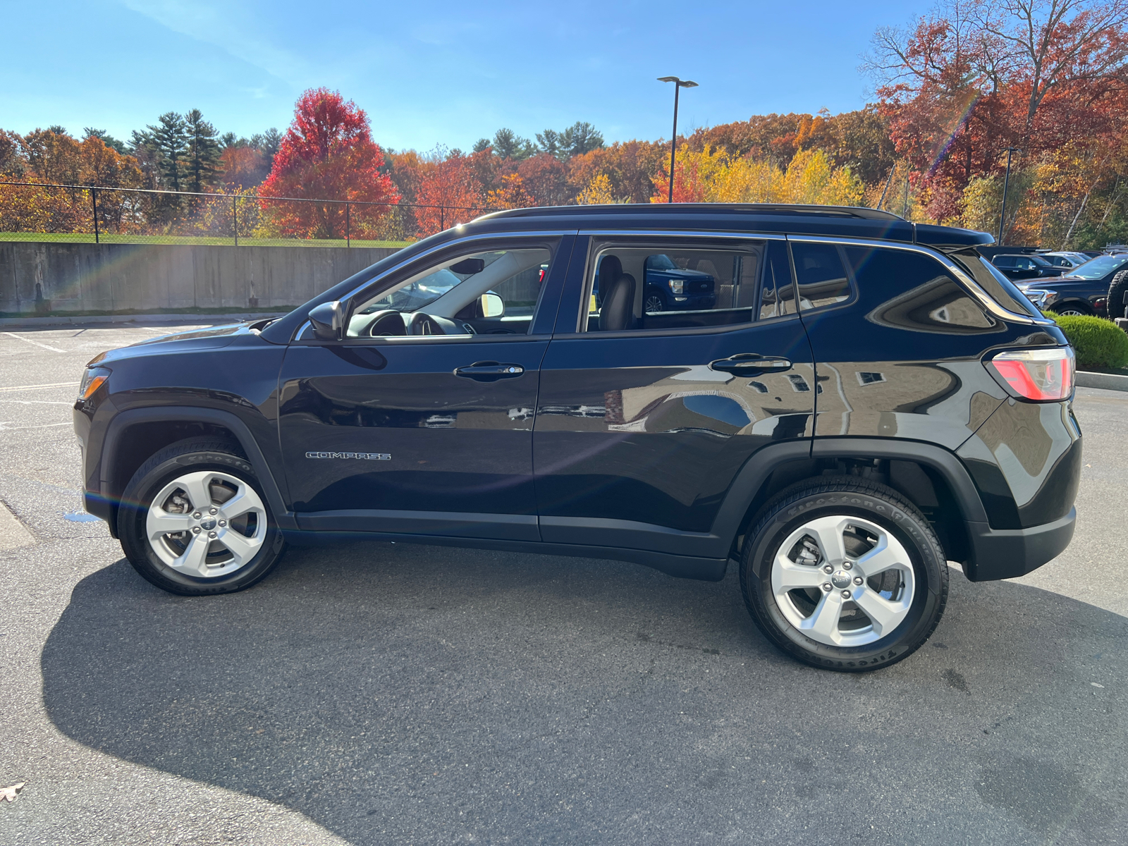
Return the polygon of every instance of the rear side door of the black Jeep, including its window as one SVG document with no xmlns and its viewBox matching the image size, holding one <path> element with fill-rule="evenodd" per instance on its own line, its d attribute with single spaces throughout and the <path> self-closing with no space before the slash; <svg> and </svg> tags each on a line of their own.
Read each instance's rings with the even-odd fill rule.
<svg viewBox="0 0 1128 846">
<path fill-rule="evenodd" d="M 712 307 L 644 311 L 646 262 L 659 255 L 686 279 L 712 276 Z M 592 235 L 572 264 L 534 434 L 543 539 L 726 556 L 710 532 L 738 470 L 769 443 L 812 434 L 816 382 L 786 243 Z M 633 287 L 629 315 L 609 310 L 613 285 Z"/>
</svg>

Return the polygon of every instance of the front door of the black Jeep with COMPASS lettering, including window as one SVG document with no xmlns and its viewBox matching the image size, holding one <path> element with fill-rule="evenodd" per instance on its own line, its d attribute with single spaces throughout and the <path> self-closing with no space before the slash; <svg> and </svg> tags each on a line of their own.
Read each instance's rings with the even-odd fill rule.
<svg viewBox="0 0 1128 846">
<path fill-rule="evenodd" d="M 563 240 L 421 257 L 354 298 L 345 340 L 290 346 L 279 425 L 300 527 L 539 539 L 531 441 L 550 324 L 535 318 L 555 315 Z"/>
</svg>

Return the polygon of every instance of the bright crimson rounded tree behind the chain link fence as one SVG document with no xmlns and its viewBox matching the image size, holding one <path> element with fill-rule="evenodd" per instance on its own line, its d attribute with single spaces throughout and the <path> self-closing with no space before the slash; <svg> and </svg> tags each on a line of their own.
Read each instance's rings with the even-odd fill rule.
<svg viewBox="0 0 1128 846">
<path fill-rule="evenodd" d="M 350 228 L 353 237 L 363 237 L 377 230 L 389 204 L 399 200 L 382 167 L 384 152 L 372 141 L 364 111 L 337 91 L 311 88 L 298 100 L 259 194 L 358 203 L 349 210 Z M 344 203 L 279 201 L 264 203 L 263 211 L 287 236 L 345 235 Z"/>
</svg>

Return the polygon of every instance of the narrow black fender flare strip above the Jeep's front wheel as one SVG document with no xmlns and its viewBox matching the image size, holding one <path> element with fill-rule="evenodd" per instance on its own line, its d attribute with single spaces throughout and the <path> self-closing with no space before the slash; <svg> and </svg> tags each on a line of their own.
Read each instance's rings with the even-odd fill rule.
<svg viewBox="0 0 1128 846">
<path fill-rule="evenodd" d="M 106 426 L 106 435 L 102 448 L 99 484 L 102 486 L 103 494 L 106 494 L 111 490 L 111 485 L 113 483 L 111 469 L 114 466 L 114 459 L 117 457 L 118 444 L 122 442 L 122 437 L 125 430 L 138 423 L 160 422 L 213 423 L 229 430 L 231 434 L 235 435 L 236 440 L 239 441 L 239 446 L 243 447 L 243 450 L 247 453 L 247 458 L 249 459 L 252 466 L 255 468 L 255 473 L 258 475 L 258 482 L 263 486 L 263 493 L 266 494 L 266 501 L 271 506 L 271 511 L 274 512 L 274 518 L 277 521 L 279 528 L 298 528 L 293 512 L 287 509 L 277 481 L 274 478 L 274 473 L 271 470 L 270 464 L 267 464 L 266 458 L 263 456 L 263 451 L 259 449 L 258 442 L 250 433 L 250 429 L 247 428 L 246 423 L 239 420 L 238 415 L 232 414 L 231 412 L 220 411 L 218 408 L 201 408 L 191 405 L 170 405 L 155 408 L 131 408 L 115 415 L 114 418 L 109 421 L 109 425 Z"/>
</svg>

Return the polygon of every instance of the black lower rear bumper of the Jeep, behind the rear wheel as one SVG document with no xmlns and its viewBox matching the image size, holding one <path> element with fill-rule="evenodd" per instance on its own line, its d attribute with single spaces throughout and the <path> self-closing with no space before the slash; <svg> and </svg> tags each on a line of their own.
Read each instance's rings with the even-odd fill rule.
<svg viewBox="0 0 1128 846">
<path fill-rule="evenodd" d="M 993 529 L 985 522 L 968 522 L 971 558 L 964 574 L 972 582 L 1014 579 L 1052 561 L 1073 539 L 1077 510 L 1029 529 Z"/>
</svg>

